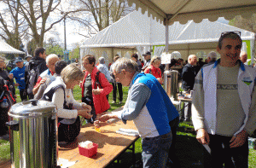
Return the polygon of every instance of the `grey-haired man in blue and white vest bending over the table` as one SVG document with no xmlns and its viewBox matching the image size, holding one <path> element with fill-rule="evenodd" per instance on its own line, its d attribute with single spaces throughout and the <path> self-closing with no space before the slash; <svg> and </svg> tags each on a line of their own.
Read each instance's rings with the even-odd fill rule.
<svg viewBox="0 0 256 168">
<path fill-rule="evenodd" d="M 127 58 L 113 64 L 116 80 L 130 89 L 123 110 L 102 115 L 99 120 L 122 119 L 124 124 L 133 120 L 143 139 L 143 167 L 166 167 L 172 131 L 176 134 L 170 125 L 178 121 L 178 113 L 158 80 L 137 70 L 137 63 Z"/>
</svg>

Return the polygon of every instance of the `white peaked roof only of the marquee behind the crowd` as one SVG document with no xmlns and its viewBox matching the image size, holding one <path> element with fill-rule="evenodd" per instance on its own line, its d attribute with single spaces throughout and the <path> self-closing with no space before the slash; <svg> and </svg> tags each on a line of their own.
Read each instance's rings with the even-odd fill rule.
<svg viewBox="0 0 256 168">
<path fill-rule="evenodd" d="M 165 29 L 160 22 L 148 17 L 148 12 L 142 14 L 139 9 L 87 39 L 81 47 L 164 45 L 166 43 Z M 253 32 L 204 19 L 199 24 L 193 20 L 189 20 L 184 25 L 174 22 L 172 26 L 169 26 L 169 43 L 218 42 L 221 32 L 231 31 L 240 31 L 243 40 L 253 39 Z"/>
</svg>

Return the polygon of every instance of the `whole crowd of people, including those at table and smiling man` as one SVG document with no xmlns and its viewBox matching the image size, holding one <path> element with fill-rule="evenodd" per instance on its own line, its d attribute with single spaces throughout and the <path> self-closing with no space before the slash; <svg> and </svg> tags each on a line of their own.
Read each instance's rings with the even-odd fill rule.
<svg viewBox="0 0 256 168">
<path fill-rule="evenodd" d="M 247 53 L 241 52 L 238 32 L 222 33 L 217 51 L 220 59 L 212 51 L 205 61 L 197 61 L 196 55 L 189 55 L 188 61 L 172 60 L 170 67 L 179 69 L 184 92 L 194 90 L 192 103 L 185 104 L 181 116 L 161 85 L 165 67 L 160 57 L 151 58 L 149 51 L 143 55 L 145 63 L 137 54 L 131 59 L 115 55 L 108 66 L 104 57 L 96 65 L 94 55 L 84 55 L 82 71 L 76 64 L 67 65 L 57 55 L 46 55 L 44 48 L 37 48 L 26 64 L 16 58 L 17 67 L 11 72 L 4 70 L 4 58 L 0 57 L 0 77 L 9 82 L 7 90 L 13 103 L 15 86 L 22 101 L 35 98 L 55 103 L 59 145 L 76 140 L 81 118 L 96 127 L 105 125 L 108 119 L 121 119 L 124 124 L 133 120 L 142 137 L 143 167 L 171 163 L 180 167 L 175 152 L 176 131 L 179 122 L 192 119 L 196 139 L 211 149 L 212 167 L 247 167 L 247 136 L 256 129 L 256 69 L 244 65 Z M 75 85 L 81 88 L 81 101 L 73 98 Z M 125 106 L 106 113 L 112 91 L 113 103 L 122 103 L 123 86 L 129 87 Z M 7 113 L 1 115 L 4 127 Z M 2 129 L 0 136 L 6 131 Z"/>
</svg>

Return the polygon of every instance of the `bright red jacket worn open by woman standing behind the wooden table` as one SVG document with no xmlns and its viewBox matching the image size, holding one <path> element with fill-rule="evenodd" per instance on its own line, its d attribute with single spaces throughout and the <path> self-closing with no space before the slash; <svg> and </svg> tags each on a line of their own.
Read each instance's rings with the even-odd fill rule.
<svg viewBox="0 0 256 168">
<path fill-rule="evenodd" d="M 110 106 L 107 100 L 107 95 L 113 90 L 113 86 L 112 84 L 108 83 L 108 79 L 105 78 L 105 75 L 101 72 L 99 74 L 99 82 L 102 85 L 102 88 L 100 85 L 96 84 L 96 88 L 95 88 L 95 82 L 96 82 L 96 72 L 98 72 L 99 70 L 94 67 L 94 69 L 92 70 L 90 77 L 91 77 L 91 84 L 92 84 L 92 89 L 96 90 L 97 86 L 99 86 L 100 89 L 103 89 L 101 91 L 100 95 L 94 95 L 92 94 L 93 97 L 93 104 L 96 110 L 96 114 L 97 113 L 103 113 L 105 111 L 107 111 Z M 84 80 L 82 83 L 82 97 L 84 97 L 84 83 L 85 83 L 85 78 L 87 77 L 88 72 L 85 71 L 85 75 L 84 75 Z"/>
</svg>

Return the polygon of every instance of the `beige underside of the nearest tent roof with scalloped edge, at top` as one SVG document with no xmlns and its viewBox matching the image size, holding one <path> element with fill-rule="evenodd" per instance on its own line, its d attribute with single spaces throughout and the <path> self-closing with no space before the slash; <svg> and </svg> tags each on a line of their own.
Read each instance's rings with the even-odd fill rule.
<svg viewBox="0 0 256 168">
<path fill-rule="evenodd" d="M 199 23 L 206 18 L 216 21 L 218 17 L 231 20 L 236 15 L 248 18 L 256 13 L 255 0 L 128 0 L 129 6 L 132 3 L 143 9 L 143 14 L 148 11 L 148 16 L 152 14 L 161 22 L 168 19 L 169 25 L 174 21 Z"/>
</svg>

